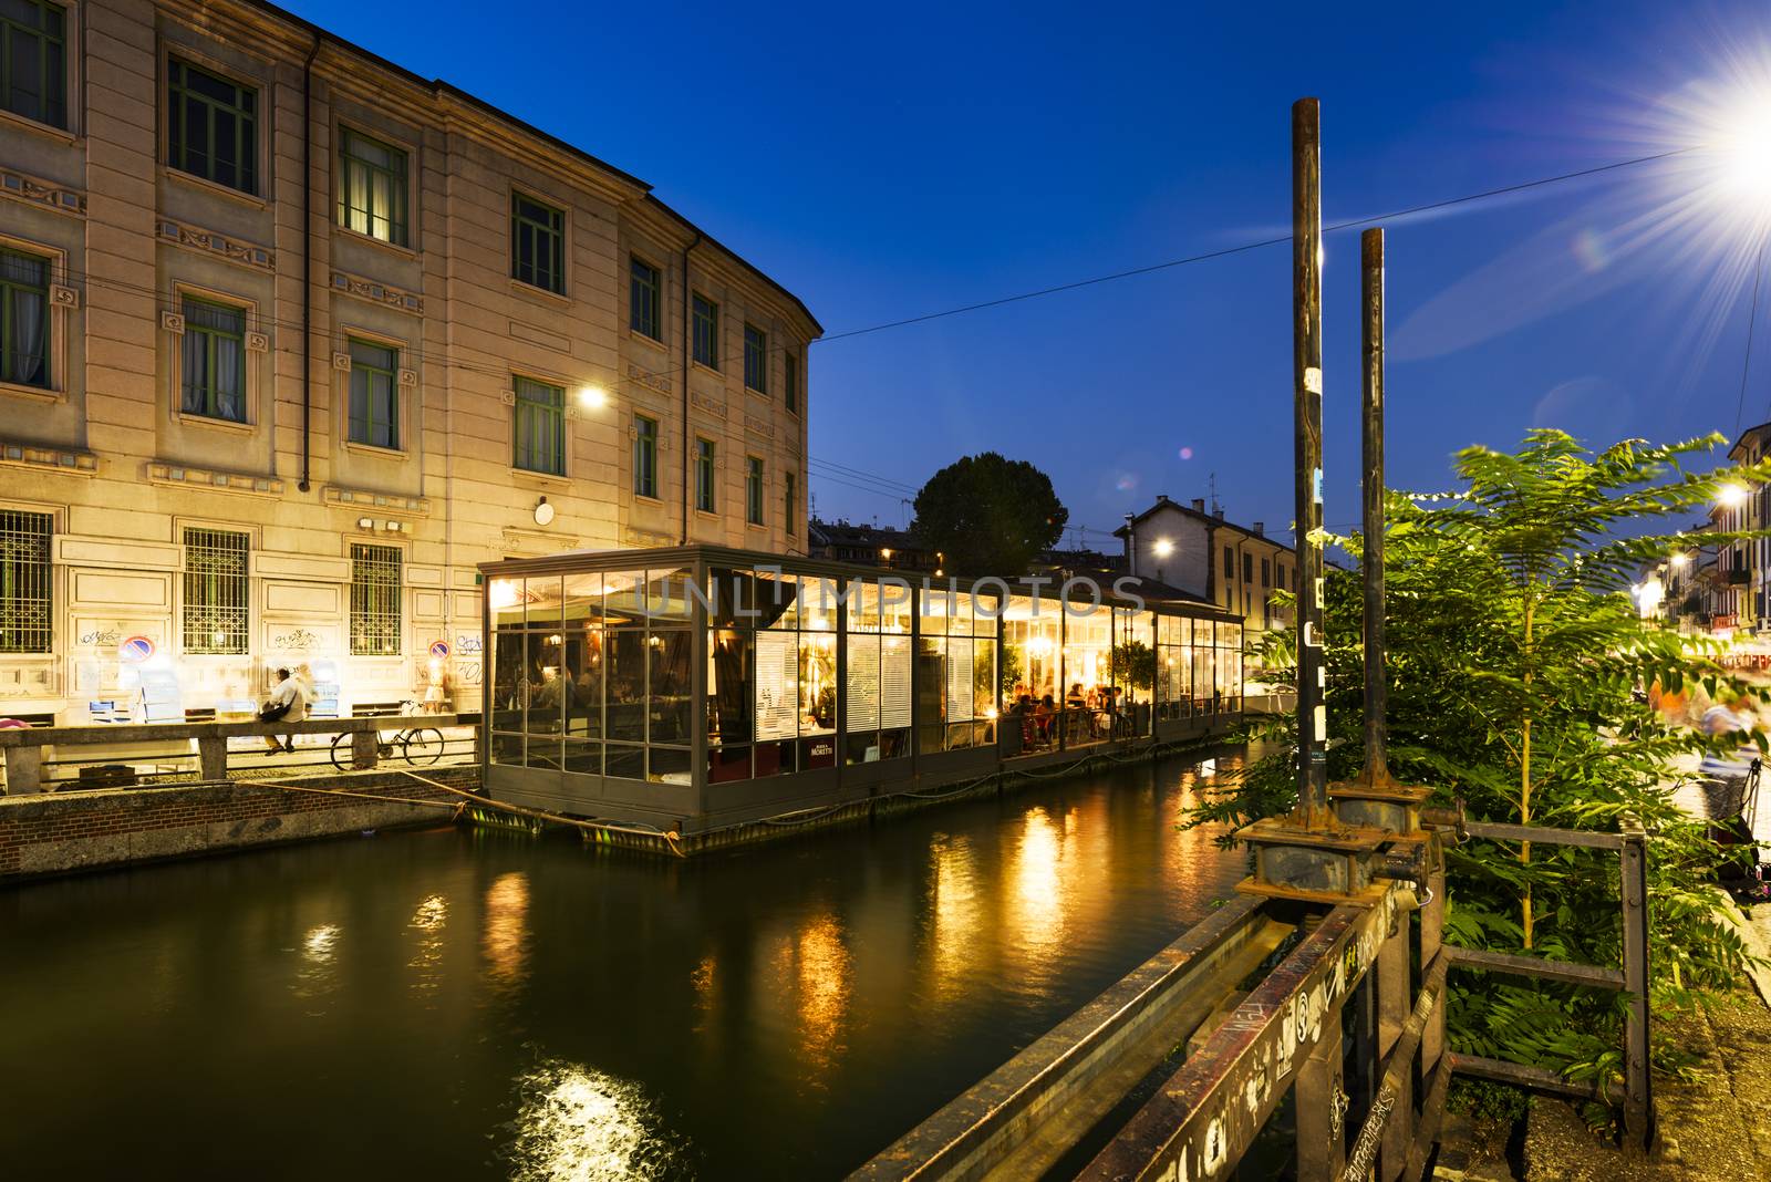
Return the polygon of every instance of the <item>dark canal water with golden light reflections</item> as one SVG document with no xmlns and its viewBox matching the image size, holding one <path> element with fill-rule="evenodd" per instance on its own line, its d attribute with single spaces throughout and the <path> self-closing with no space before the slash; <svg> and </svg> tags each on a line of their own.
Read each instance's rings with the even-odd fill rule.
<svg viewBox="0 0 1771 1182">
<path fill-rule="evenodd" d="M 1213 770 L 694 862 L 437 828 L 0 892 L 4 1173 L 839 1177 L 1229 894 L 1176 830 Z"/>
</svg>

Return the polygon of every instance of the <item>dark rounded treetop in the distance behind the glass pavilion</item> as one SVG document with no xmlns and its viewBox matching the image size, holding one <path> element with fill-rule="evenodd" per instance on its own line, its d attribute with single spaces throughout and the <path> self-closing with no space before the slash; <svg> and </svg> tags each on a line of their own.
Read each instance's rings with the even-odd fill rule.
<svg viewBox="0 0 1771 1182">
<path fill-rule="evenodd" d="M 1068 520 L 1050 476 L 985 451 L 928 478 L 910 533 L 946 556 L 949 573 L 1013 577 L 1057 543 Z"/>
</svg>

